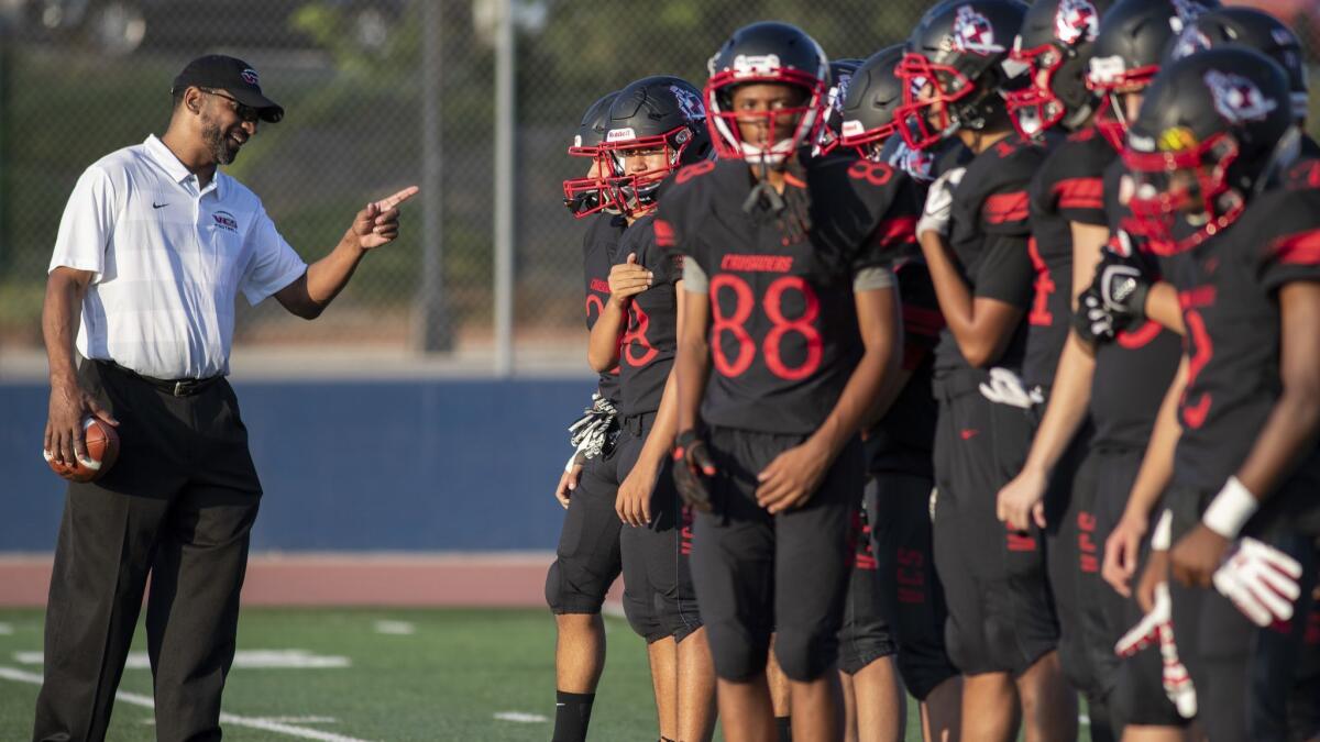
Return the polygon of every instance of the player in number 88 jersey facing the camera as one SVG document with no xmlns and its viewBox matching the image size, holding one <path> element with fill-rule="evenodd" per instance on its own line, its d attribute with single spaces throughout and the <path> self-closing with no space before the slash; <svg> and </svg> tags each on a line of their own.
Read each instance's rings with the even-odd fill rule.
<svg viewBox="0 0 1320 742">
<path fill-rule="evenodd" d="M 858 432 L 899 359 L 884 263 L 911 242 L 915 203 L 887 165 L 809 157 L 829 73 L 800 29 L 739 29 L 710 69 L 721 161 L 681 170 L 656 219 L 688 292 L 675 475 L 702 510 L 693 581 L 726 738 L 774 735 L 775 631 L 793 737 L 834 739 Z"/>
</svg>

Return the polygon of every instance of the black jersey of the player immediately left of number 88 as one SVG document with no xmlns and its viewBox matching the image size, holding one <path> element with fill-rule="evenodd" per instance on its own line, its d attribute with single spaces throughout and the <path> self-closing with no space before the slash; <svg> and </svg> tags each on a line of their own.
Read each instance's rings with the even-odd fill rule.
<svg viewBox="0 0 1320 742">
<path fill-rule="evenodd" d="M 624 417 L 660 409 L 678 342 L 675 284 L 682 279 L 681 257 L 656 246 L 655 217 L 642 217 L 623 232 L 614 261 L 627 263 L 630 253 L 653 279 L 651 288 L 628 302 L 628 323 L 619 339 L 619 415 Z"/>
</svg>

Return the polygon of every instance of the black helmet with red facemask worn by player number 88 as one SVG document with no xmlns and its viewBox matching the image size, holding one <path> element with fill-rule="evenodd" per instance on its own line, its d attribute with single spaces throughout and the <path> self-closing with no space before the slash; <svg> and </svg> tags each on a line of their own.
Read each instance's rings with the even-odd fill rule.
<svg viewBox="0 0 1320 742">
<path fill-rule="evenodd" d="M 804 30 L 775 21 L 743 26 L 725 41 L 708 66 L 706 124 L 721 158 L 779 165 L 800 147 L 816 144 L 828 103 L 829 62 L 821 45 Z M 744 83 L 800 87 L 803 103 L 777 111 L 734 111 L 733 90 Z M 743 139 L 739 121 L 756 120 L 764 120 L 770 129 L 768 147 Z"/>
</svg>

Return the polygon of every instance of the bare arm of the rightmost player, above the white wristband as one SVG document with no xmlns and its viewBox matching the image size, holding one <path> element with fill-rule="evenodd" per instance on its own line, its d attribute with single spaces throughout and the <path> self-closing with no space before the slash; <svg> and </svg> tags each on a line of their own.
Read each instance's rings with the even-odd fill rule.
<svg viewBox="0 0 1320 742">
<path fill-rule="evenodd" d="M 1292 283 L 1279 289 L 1283 392 L 1274 404 L 1237 478 L 1257 499 L 1267 499 L 1315 450 L 1320 432 L 1320 287 Z"/>
</svg>

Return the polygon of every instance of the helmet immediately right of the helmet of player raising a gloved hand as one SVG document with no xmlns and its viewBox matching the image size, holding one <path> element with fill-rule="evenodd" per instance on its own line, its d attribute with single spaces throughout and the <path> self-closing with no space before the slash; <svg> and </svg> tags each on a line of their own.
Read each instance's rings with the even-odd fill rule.
<svg viewBox="0 0 1320 742">
<path fill-rule="evenodd" d="M 1096 112 L 1100 96 L 1086 87 L 1086 67 L 1100 18 L 1114 0 L 1036 0 L 1012 42 L 1008 62 L 1028 73 L 1030 84 L 1005 96 L 1022 136 L 1063 124 L 1073 131 Z"/>
</svg>

